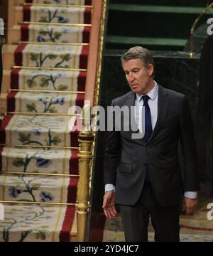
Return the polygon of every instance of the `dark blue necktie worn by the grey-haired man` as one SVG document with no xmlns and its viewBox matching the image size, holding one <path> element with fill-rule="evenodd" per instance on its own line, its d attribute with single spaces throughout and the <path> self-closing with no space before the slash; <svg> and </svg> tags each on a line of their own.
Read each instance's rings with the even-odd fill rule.
<svg viewBox="0 0 213 256">
<path fill-rule="evenodd" d="M 143 139 L 148 142 L 148 139 L 151 137 L 153 132 L 152 122 L 151 122 L 151 112 L 148 105 L 148 100 L 150 97 L 148 95 L 142 96 L 143 99 L 143 106 L 145 107 L 145 134 Z M 150 181 L 150 177 L 148 174 L 148 165 L 146 163 L 146 181 Z"/>
</svg>

